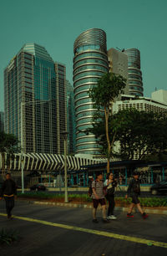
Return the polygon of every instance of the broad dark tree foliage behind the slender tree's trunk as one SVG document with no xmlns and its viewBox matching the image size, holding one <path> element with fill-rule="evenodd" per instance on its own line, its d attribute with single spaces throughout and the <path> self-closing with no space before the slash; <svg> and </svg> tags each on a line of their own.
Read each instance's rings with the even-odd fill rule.
<svg viewBox="0 0 167 256">
<path fill-rule="evenodd" d="M 97 122 L 100 114 L 94 115 L 93 127 L 89 128 L 105 154 L 107 140 L 105 137 L 104 120 Z M 119 150 L 113 156 L 122 160 L 165 160 L 167 159 L 167 118 L 153 112 L 136 109 L 119 110 L 109 116 L 109 139 L 118 142 Z"/>
</svg>

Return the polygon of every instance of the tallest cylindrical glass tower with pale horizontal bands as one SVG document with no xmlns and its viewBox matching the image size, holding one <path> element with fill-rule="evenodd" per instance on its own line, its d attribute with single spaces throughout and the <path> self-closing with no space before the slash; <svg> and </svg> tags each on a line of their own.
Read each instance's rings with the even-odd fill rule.
<svg viewBox="0 0 167 256">
<path fill-rule="evenodd" d="M 96 111 L 89 97 L 89 89 L 96 86 L 97 79 L 109 71 L 106 33 L 99 28 L 81 33 L 74 42 L 73 53 L 76 152 L 97 155 L 97 140 L 93 134 L 86 136 L 83 131 L 92 126 L 92 117 Z"/>
</svg>

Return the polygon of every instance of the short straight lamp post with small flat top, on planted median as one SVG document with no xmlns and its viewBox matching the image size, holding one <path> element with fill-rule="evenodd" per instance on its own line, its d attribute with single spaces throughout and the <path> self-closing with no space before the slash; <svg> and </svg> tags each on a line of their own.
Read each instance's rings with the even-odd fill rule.
<svg viewBox="0 0 167 256">
<path fill-rule="evenodd" d="M 63 131 L 60 133 L 63 135 L 63 145 L 64 145 L 64 202 L 68 202 L 68 170 L 67 170 L 67 141 L 68 141 L 68 131 Z"/>
</svg>

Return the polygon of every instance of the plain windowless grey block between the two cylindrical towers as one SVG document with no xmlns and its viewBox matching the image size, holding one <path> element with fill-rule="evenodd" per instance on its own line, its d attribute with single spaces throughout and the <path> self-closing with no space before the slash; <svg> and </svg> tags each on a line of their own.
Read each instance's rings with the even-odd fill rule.
<svg viewBox="0 0 167 256">
<path fill-rule="evenodd" d="M 128 80 L 128 56 L 122 51 L 111 48 L 108 50 L 109 72 L 120 74 L 126 79 L 124 94 L 129 95 L 129 80 Z M 120 95 L 119 95 L 120 97 Z M 118 99 L 119 99 L 118 97 Z M 118 100 L 117 99 L 117 100 Z"/>
</svg>

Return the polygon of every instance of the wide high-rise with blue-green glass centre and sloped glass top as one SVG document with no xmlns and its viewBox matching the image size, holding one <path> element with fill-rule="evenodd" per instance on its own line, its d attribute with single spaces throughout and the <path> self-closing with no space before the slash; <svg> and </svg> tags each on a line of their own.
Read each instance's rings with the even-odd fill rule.
<svg viewBox="0 0 167 256">
<path fill-rule="evenodd" d="M 25 44 L 4 70 L 4 95 L 5 131 L 22 140 L 24 152 L 63 153 L 63 64 L 55 64 L 42 46 Z"/>
</svg>

